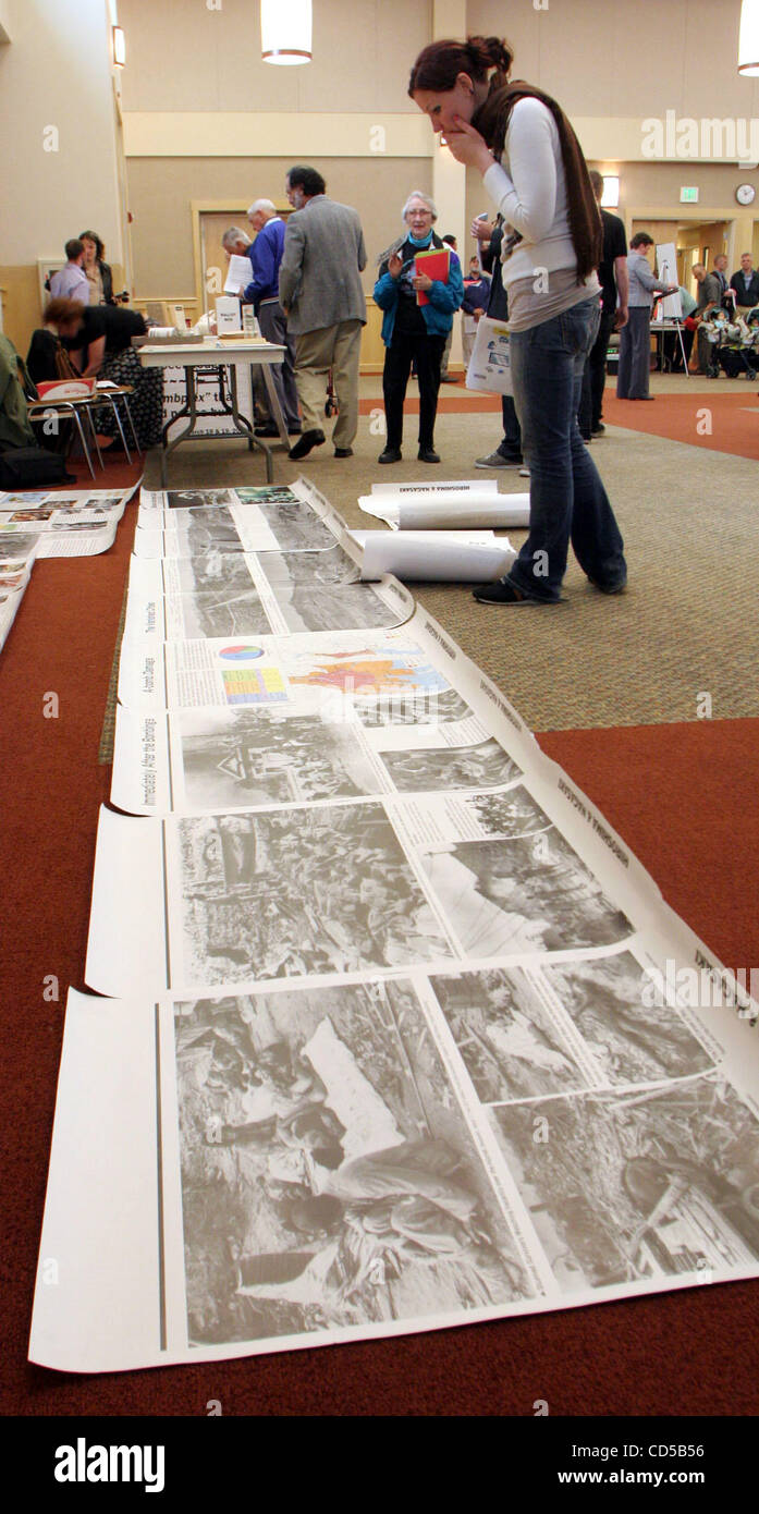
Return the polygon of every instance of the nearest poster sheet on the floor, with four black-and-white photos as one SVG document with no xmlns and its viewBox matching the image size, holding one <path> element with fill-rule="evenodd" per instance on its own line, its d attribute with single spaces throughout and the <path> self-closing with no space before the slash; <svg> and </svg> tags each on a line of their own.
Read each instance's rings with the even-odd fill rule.
<svg viewBox="0 0 759 1514">
<path fill-rule="evenodd" d="M 30 1357 L 127 1370 L 753 1276 L 753 1034 L 657 998 L 629 946 L 71 993 Z"/>
</svg>

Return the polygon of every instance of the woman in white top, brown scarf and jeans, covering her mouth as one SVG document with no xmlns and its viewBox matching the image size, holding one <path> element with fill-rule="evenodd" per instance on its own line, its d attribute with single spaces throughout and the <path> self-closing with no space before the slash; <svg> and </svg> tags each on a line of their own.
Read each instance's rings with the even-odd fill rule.
<svg viewBox="0 0 759 1514">
<path fill-rule="evenodd" d="M 461 164 L 482 173 L 504 218 L 514 401 L 530 465 L 530 533 L 506 578 L 474 590 L 486 604 L 554 604 L 570 540 L 604 593 L 624 587 L 623 539 L 582 441 L 577 407 L 600 319 L 601 221 L 588 168 L 550 95 L 509 83 L 495 36 L 426 47 L 409 94 Z"/>
</svg>

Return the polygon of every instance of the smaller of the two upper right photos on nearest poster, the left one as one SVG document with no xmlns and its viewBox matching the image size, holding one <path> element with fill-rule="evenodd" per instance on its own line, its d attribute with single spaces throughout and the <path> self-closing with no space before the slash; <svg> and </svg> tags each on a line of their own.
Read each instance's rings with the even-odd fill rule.
<svg viewBox="0 0 759 1514">
<path fill-rule="evenodd" d="M 482 1104 L 586 1087 L 526 972 L 441 974 L 430 983 Z"/>
</svg>

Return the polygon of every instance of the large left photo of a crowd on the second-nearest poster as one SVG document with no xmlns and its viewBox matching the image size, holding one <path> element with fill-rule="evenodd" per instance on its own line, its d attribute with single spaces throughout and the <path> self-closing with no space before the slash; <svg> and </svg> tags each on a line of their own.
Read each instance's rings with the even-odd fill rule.
<svg viewBox="0 0 759 1514">
<path fill-rule="evenodd" d="M 177 849 L 188 983 L 451 957 L 377 802 L 182 819 Z"/>
</svg>

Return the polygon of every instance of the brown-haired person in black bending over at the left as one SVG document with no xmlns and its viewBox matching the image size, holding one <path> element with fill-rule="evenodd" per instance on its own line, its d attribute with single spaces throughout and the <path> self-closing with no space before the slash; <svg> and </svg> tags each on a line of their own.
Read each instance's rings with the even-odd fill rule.
<svg viewBox="0 0 759 1514">
<path fill-rule="evenodd" d="M 159 368 L 142 368 L 132 347 L 133 336 L 147 333 L 144 318 L 115 304 L 50 300 L 44 321 L 61 338 L 82 377 L 109 378 L 132 388 L 129 407 L 139 447 L 155 447 L 161 441 L 164 378 Z M 98 430 L 106 436 L 118 435 L 114 416 L 103 412 Z"/>
</svg>

